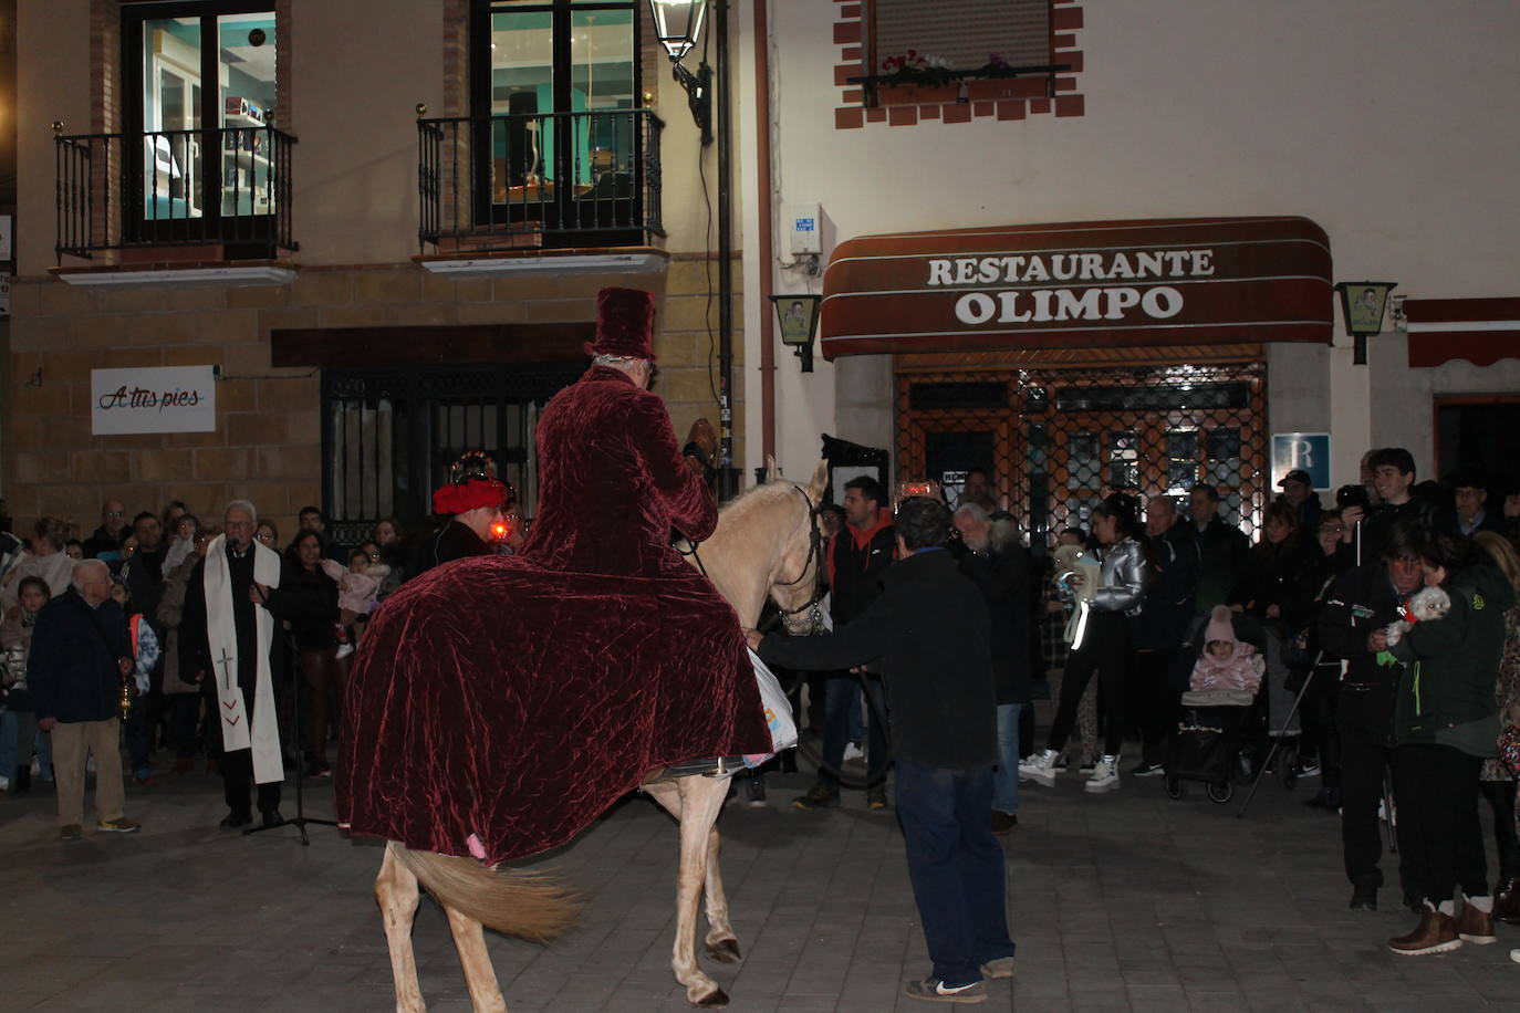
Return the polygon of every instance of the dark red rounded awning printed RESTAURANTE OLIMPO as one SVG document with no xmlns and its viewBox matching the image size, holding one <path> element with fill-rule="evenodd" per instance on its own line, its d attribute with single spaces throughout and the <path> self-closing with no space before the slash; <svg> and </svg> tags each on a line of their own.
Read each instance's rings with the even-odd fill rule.
<svg viewBox="0 0 1520 1013">
<path fill-rule="evenodd" d="M 862 235 L 824 275 L 825 358 L 1330 342 L 1330 240 L 1301 217 Z"/>
</svg>

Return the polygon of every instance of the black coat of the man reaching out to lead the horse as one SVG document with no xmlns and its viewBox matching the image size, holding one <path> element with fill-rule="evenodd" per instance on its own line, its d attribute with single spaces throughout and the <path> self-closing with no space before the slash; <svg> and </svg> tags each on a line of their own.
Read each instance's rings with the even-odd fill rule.
<svg viewBox="0 0 1520 1013">
<path fill-rule="evenodd" d="M 882 595 L 848 626 L 822 636 L 772 633 L 760 644 L 760 658 L 815 671 L 880 658 L 892 755 L 944 770 L 997 762 L 997 694 L 982 592 L 944 550 L 914 553 L 882 580 Z"/>
</svg>

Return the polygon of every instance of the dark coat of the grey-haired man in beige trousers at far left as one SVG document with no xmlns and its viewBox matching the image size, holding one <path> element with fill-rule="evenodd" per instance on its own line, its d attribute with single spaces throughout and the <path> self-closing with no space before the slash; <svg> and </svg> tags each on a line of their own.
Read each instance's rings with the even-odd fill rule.
<svg viewBox="0 0 1520 1013">
<path fill-rule="evenodd" d="M 132 647 L 116 601 L 91 607 L 68 588 L 44 604 L 32 627 L 26 664 L 36 718 L 73 724 L 122 717 L 123 658 L 132 658 Z"/>
</svg>

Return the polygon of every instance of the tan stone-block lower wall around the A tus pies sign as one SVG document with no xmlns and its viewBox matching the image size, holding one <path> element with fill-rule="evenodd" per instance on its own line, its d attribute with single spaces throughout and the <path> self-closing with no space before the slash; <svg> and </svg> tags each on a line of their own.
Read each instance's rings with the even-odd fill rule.
<svg viewBox="0 0 1520 1013">
<path fill-rule="evenodd" d="M 705 258 L 678 257 L 666 273 L 635 276 L 456 281 L 394 264 L 306 267 L 289 286 L 233 289 L 93 290 L 23 278 L 12 289 L 5 497 L 20 525 L 40 515 L 64 516 L 81 535 L 99 524 L 108 497 L 132 513 L 179 498 L 202 516 L 217 516 L 228 500 L 245 497 L 283 535 L 293 532 L 295 513 L 322 503 L 321 386 L 312 369 L 271 368 L 271 330 L 591 320 L 596 292 L 608 284 L 661 296 L 655 389 L 684 439 L 695 418 L 717 422 L 716 275 L 710 313 L 707 275 Z M 363 348 L 353 361 L 383 364 L 366 360 Z M 214 433 L 91 436 L 91 369 L 207 364 L 223 375 Z M 736 457 L 742 460 L 742 451 Z"/>
</svg>

